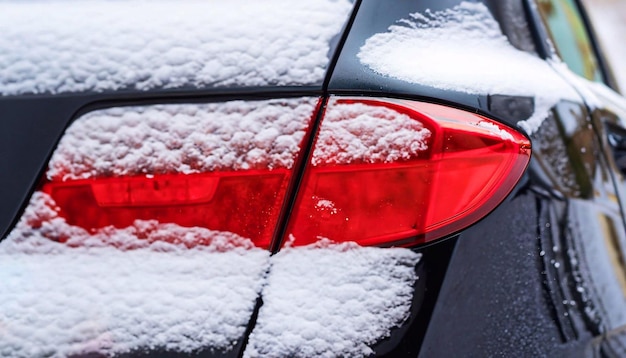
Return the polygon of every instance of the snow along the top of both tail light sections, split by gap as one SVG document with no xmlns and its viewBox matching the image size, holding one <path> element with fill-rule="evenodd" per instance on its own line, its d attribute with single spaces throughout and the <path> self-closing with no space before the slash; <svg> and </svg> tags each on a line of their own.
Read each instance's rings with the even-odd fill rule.
<svg viewBox="0 0 626 358">
<path fill-rule="evenodd" d="M 291 169 L 317 99 L 114 107 L 87 113 L 63 135 L 51 180 Z M 313 165 L 417 158 L 430 131 L 391 108 L 331 99 Z"/>
</svg>

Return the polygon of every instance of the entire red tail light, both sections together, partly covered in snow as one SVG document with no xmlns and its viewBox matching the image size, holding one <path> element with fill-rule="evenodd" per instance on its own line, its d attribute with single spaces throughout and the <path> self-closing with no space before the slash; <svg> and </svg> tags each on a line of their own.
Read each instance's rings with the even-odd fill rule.
<svg viewBox="0 0 626 358">
<path fill-rule="evenodd" d="M 530 159 L 526 137 L 476 113 L 388 98 L 320 103 L 96 111 L 70 126 L 39 191 L 55 220 L 92 234 L 156 220 L 265 248 L 320 239 L 408 246 L 480 220 Z M 31 230 L 51 220 L 39 217 Z M 55 227 L 43 235 L 68 240 Z"/>
</svg>

